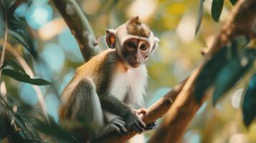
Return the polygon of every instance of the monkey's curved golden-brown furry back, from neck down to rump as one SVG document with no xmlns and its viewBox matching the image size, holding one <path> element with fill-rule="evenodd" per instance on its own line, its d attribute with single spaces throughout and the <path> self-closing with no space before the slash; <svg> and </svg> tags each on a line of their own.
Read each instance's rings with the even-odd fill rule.
<svg viewBox="0 0 256 143">
<path fill-rule="evenodd" d="M 67 84 L 62 93 L 61 105 L 59 108 L 60 119 L 65 118 L 65 107 L 67 107 L 72 91 L 80 80 L 83 78 L 91 79 L 95 83 L 95 86 L 99 87 L 99 85 L 102 84 L 100 83 L 100 81 L 102 81 L 100 77 L 110 76 L 110 73 L 106 74 L 103 71 L 105 69 L 112 69 L 110 68 L 111 65 L 121 65 L 116 63 L 120 61 L 117 59 L 119 59 L 119 56 L 116 54 L 115 49 L 106 49 L 105 51 L 100 52 L 100 54 L 93 56 L 92 59 L 76 69 L 74 77 L 70 83 Z"/>
</svg>

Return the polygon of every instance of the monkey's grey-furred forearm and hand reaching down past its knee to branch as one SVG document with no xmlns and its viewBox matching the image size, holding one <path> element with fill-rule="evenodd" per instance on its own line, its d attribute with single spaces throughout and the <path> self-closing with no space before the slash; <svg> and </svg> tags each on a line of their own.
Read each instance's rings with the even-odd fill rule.
<svg viewBox="0 0 256 143">
<path fill-rule="evenodd" d="M 108 112 L 116 114 L 125 119 L 126 126 L 134 131 L 141 133 L 146 128 L 146 124 L 138 117 L 136 111 L 128 107 L 127 104 L 120 102 L 114 96 L 104 94 L 99 96 L 100 103 Z"/>
</svg>

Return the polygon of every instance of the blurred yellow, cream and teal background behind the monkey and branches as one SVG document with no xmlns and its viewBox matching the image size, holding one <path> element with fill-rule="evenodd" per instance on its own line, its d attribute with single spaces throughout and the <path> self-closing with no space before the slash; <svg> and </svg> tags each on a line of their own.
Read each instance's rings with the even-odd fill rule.
<svg viewBox="0 0 256 143">
<path fill-rule="evenodd" d="M 204 18 L 199 34 L 195 36 L 199 1 L 77 0 L 90 21 L 101 50 L 107 48 L 104 41 L 105 29 L 115 29 L 133 16 L 139 16 L 161 39 L 160 46 L 147 65 L 149 83 L 146 107 L 188 77 L 202 61 L 201 50 L 212 44 L 222 21 L 232 8 L 229 1 L 224 2 L 219 23 L 214 22 L 211 17 L 212 1 L 204 2 Z M 47 105 L 47 113 L 58 122 L 57 107 L 62 90 L 72 79 L 76 67 L 84 62 L 79 46 L 52 2 L 34 0 L 31 4 L 24 3 L 16 9 L 15 14 L 29 24 L 35 48 L 44 64 L 34 61 L 21 44 L 13 46 L 29 59 L 28 64 L 34 69 L 35 77 L 52 82 L 52 85 L 41 86 L 40 89 Z M 1 94 L 17 94 L 24 103 L 39 107 L 39 99 L 35 96 L 37 92 L 32 84 L 16 82 L 9 77 L 3 78 L 5 82 L 0 84 Z M 244 80 L 237 84 L 227 93 L 225 100 L 215 107 L 209 98 L 196 113 L 181 142 L 256 142 L 256 124 L 252 124 L 249 129 L 242 124 L 240 101 L 246 82 Z M 146 142 L 153 132 L 137 135 L 131 142 Z"/>
</svg>

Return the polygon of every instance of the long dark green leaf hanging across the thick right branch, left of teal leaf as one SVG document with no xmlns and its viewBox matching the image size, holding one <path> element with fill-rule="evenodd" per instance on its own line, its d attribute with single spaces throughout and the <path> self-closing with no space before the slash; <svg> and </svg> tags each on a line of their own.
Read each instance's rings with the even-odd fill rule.
<svg viewBox="0 0 256 143">
<path fill-rule="evenodd" d="M 250 39 L 246 36 L 236 36 L 232 41 L 229 41 L 227 46 L 222 47 L 222 49 L 217 51 L 217 53 L 207 61 L 207 64 L 204 65 L 204 68 L 196 79 L 195 98 L 197 102 L 202 100 L 204 93 L 214 84 L 219 71 L 227 64 L 227 61 L 237 56 L 240 51 L 245 49 L 249 41 Z"/>
</svg>

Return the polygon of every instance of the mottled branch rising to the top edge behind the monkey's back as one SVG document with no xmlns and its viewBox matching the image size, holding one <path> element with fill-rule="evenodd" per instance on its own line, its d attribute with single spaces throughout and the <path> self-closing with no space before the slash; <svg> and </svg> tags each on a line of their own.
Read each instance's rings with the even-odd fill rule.
<svg viewBox="0 0 256 143">
<path fill-rule="evenodd" d="M 75 0 L 53 0 L 70 31 L 75 36 L 85 61 L 98 53 L 98 43 L 85 14 Z"/>
</svg>

